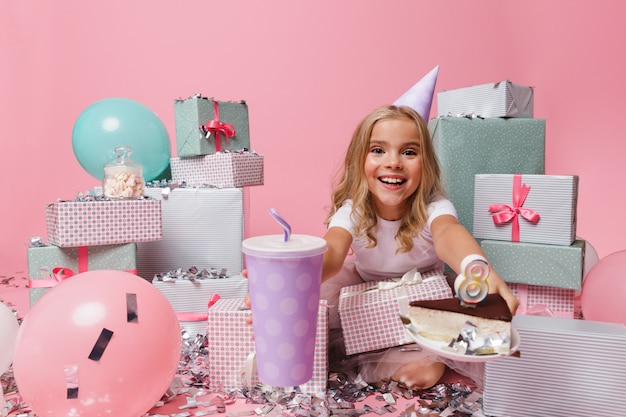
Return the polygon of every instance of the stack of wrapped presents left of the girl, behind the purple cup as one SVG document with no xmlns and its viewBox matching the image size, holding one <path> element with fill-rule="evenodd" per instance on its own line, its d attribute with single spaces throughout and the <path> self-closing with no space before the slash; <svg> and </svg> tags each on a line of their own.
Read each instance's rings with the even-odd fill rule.
<svg viewBox="0 0 626 417">
<path fill-rule="evenodd" d="M 206 337 L 212 390 L 254 385 L 241 244 L 246 187 L 263 184 L 263 155 L 250 147 L 244 101 L 195 95 L 175 100 L 174 115 L 171 180 L 149 181 L 139 200 L 79 195 L 47 206 L 48 241 L 31 239 L 27 253 L 30 303 L 80 272 L 137 274 L 168 299 L 183 339 Z M 326 390 L 327 314 L 320 304 L 316 369 L 302 392 Z"/>
</svg>

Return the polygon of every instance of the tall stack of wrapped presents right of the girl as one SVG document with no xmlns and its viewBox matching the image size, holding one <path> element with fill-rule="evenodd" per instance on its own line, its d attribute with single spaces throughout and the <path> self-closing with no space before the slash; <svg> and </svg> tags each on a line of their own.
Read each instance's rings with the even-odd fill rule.
<svg viewBox="0 0 626 417">
<path fill-rule="evenodd" d="M 459 221 L 520 302 L 519 355 L 486 362 L 484 413 L 610 415 L 623 408 L 626 330 L 579 311 L 579 181 L 545 174 L 546 121 L 533 117 L 533 94 L 509 81 L 443 91 L 429 121 Z"/>
</svg>

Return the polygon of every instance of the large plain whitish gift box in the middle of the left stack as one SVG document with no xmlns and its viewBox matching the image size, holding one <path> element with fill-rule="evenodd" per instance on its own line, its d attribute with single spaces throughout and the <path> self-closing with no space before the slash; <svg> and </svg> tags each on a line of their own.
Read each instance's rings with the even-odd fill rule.
<svg viewBox="0 0 626 417">
<path fill-rule="evenodd" d="M 137 245 L 137 270 L 155 275 L 181 265 L 198 269 L 243 269 L 243 191 L 241 188 L 154 188 L 146 195 L 162 202 L 163 239 Z"/>
</svg>

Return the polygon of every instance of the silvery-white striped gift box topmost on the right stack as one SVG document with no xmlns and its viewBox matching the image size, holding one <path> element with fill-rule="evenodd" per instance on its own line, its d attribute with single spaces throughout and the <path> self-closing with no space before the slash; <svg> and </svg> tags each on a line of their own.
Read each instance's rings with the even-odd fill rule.
<svg viewBox="0 0 626 417">
<path fill-rule="evenodd" d="M 439 116 L 533 117 L 532 87 L 500 81 L 437 93 Z"/>
</svg>

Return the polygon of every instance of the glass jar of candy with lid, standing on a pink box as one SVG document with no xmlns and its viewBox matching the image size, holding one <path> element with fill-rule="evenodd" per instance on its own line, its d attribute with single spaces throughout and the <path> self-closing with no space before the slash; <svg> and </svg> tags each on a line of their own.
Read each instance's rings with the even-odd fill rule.
<svg viewBox="0 0 626 417">
<path fill-rule="evenodd" d="M 130 146 L 115 148 L 117 159 L 104 165 L 104 179 L 102 180 L 102 194 L 113 200 L 134 200 L 143 196 L 145 181 L 143 167 L 133 162 Z"/>
</svg>

